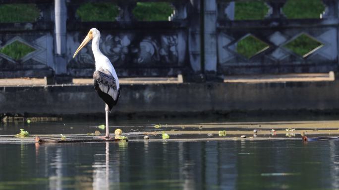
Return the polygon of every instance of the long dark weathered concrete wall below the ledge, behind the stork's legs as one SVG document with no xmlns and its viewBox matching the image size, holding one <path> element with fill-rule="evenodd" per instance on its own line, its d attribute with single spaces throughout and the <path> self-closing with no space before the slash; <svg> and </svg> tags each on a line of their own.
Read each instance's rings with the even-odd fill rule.
<svg viewBox="0 0 339 190">
<path fill-rule="evenodd" d="M 121 85 L 113 113 L 337 110 L 338 97 L 338 81 L 134 84 Z M 92 85 L 0 88 L 0 113 L 94 114 L 104 108 Z"/>
</svg>

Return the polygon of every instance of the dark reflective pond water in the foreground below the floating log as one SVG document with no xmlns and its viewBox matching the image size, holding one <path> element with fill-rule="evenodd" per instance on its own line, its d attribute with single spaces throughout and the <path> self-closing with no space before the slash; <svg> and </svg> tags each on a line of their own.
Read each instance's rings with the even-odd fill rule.
<svg viewBox="0 0 339 190">
<path fill-rule="evenodd" d="M 0 190 L 339 188 L 338 141 L 0 144 Z"/>
</svg>

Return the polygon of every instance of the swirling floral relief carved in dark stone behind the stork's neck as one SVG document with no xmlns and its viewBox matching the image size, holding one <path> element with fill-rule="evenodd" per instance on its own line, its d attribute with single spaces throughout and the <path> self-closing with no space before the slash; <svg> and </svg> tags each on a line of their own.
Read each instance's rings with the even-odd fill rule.
<svg viewBox="0 0 339 190">
<path fill-rule="evenodd" d="M 145 37 L 141 41 L 133 41 L 129 35 L 102 35 L 100 50 L 112 62 L 114 67 L 125 67 L 129 64 L 139 66 L 178 64 L 177 36 L 163 35 L 159 38 Z M 76 49 L 80 43 L 74 43 Z M 70 61 L 68 68 L 94 68 L 95 60 L 91 45 L 87 45 Z"/>
</svg>

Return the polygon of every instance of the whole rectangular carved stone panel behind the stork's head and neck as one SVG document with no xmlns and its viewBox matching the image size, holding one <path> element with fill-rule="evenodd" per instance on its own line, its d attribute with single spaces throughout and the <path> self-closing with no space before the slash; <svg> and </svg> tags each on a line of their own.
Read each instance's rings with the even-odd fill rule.
<svg viewBox="0 0 339 190">
<path fill-rule="evenodd" d="M 68 33 L 68 69 L 95 68 L 91 42 L 73 59 L 86 33 Z M 179 42 L 180 38 L 181 42 Z M 114 68 L 145 69 L 179 67 L 185 60 L 186 40 L 180 33 L 141 32 L 101 32 L 100 50 L 113 64 Z M 183 46 L 183 47 L 182 47 Z"/>
</svg>

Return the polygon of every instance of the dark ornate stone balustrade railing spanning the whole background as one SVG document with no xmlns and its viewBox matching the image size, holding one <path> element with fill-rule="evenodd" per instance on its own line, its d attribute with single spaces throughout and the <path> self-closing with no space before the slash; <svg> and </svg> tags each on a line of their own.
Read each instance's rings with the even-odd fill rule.
<svg viewBox="0 0 339 190">
<path fill-rule="evenodd" d="M 78 8 L 95 0 L 0 0 L 39 10 L 33 21 L 0 23 L 0 78 L 91 77 L 91 46 L 72 57 L 90 28 L 101 31 L 100 48 L 120 77 L 338 70 L 338 0 L 322 0 L 324 12 L 307 19 L 286 16 L 286 0 L 263 1 L 262 19 L 236 19 L 237 0 L 101 1 L 114 3 L 115 19 L 82 21 Z M 167 2 L 173 13 L 168 21 L 139 21 L 138 2 Z M 13 57 L 14 46 L 25 51 Z"/>
</svg>

